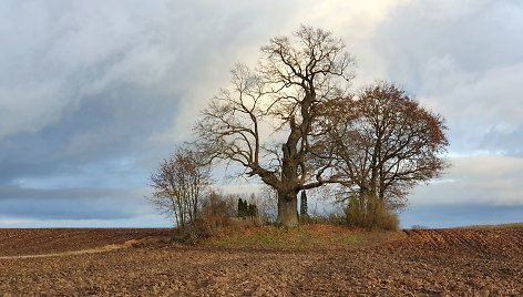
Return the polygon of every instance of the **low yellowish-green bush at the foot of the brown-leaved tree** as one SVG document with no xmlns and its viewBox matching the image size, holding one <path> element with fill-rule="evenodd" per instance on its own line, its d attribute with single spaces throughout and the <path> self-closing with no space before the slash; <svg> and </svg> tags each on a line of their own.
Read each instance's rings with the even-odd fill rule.
<svg viewBox="0 0 523 297">
<path fill-rule="evenodd" d="M 399 229 L 398 215 L 387 202 L 372 196 L 353 196 L 347 205 L 347 225 L 367 229 Z"/>
</svg>

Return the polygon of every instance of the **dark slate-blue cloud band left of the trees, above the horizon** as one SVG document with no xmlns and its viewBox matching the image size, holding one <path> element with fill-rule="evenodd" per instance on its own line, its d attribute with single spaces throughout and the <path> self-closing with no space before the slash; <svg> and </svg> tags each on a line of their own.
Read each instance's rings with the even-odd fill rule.
<svg viewBox="0 0 523 297">
<path fill-rule="evenodd" d="M 150 135 L 171 124 L 176 110 L 175 100 L 162 96 L 132 85 L 114 86 L 39 133 L 6 137 L 0 146 L 0 184 L 23 176 L 78 174 L 126 156 L 151 158 L 162 151 L 147 143 Z"/>
</svg>

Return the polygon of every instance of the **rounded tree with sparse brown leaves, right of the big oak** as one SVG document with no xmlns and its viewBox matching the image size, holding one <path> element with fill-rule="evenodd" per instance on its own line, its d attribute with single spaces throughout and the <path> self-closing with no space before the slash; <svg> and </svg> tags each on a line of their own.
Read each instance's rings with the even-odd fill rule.
<svg viewBox="0 0 523 297">
<path fill-rule="evenodd" d="M 442 117 L 394 84 L 377 83 L 325 107 L 326 147 L 335 147 L 340 182 L 351 192 L 345 197 L 376 197 L 401 208 L 413 186 L 447 167 Z"/>
</svg>

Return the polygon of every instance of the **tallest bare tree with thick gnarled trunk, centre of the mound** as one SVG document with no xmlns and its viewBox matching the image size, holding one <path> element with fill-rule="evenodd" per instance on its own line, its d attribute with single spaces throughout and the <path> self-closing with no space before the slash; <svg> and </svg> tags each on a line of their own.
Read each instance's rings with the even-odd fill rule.
<svg viewBox="0 0 523 297">
<path fill-rule="evenodd" d="M 298 192 L 334 182 L 329 162 L 315 153 L 318 111 L 346 94 L 353 60 L 341 40 L 309 27 L 273 38 L 262 53 L 256 70 L 233 70 L 232 88 L 212 100 L 195 131 L 211 158 L 239 164 L 273 187 L 277 223 L 296 226 Z"/>
</svg>

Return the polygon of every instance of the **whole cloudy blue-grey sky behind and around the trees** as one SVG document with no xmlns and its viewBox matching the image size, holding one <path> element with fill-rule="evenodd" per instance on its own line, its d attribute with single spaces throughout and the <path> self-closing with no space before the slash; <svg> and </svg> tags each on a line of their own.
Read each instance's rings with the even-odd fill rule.
<svg viewBox="0 0 523 297">
<path fill-rule="evenodd" d="M 449 126 L 402 226 L 523 222 L 523 1 L 0 2 L 0 227 L 170 226 L 148 176 L 237 62 L 300 24 Z M 253 180 L 253 183 L 256 183 Z"/>
</svg>

